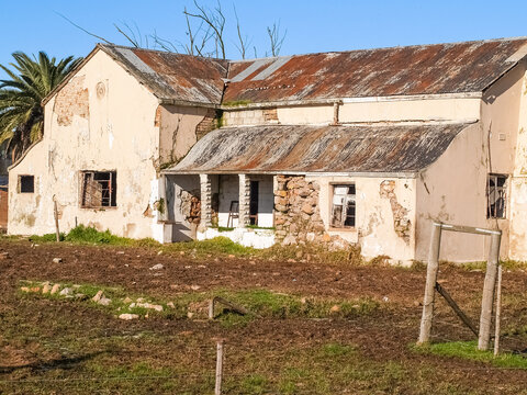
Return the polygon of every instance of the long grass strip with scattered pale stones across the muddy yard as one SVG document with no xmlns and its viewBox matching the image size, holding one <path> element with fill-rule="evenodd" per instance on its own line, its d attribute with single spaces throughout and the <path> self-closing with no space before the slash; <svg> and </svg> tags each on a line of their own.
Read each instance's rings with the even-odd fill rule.
<svg viewBox="0 0 527 395">
<path fill-rule="evenodd" d="M 289 318 L 344 318 L 369 315 L 380 308 L 380 303 L 362 297 L 357 300 L 329 300 L 319 297 L 302 297 L 284 293 L 274 293 L 267 290 L 226 291 L 216 290 L 203 293 L 179 294 L 171 300 L 154 300 L 147 295 L 134 295 L 122 287 L 102 286 L 96 284 L 61 283 L 60 290 L 70 289 L 69 296 L 43 293 L 45 283 L 38 281 L 20 282 L 20 295 L 23 297 L 44 297 L 51 300 L 69 300 L 76 303 L 101 309 L 103 312 L 120 314 L 137 314 L 141 317 L 148 315 L 150 318 L 161 317 L 167 319 L 208 318 L 209 301 L 214 296 L 222 296 L 227 301 L 240 305 L 249 311 L 246 316 L 239 316 L 227 307 L 216 307 L 216 318 L 225 326 L 245 325 L 257 317 L 289 319 Z M 49 284 L 53 285 L 53 284 Z M 106 306 L 92 301 L 92 297 L 102 291 L 111 300 Z M 79 296 L 82 295 L 82 296 Z M 139 304 L 162 306 L 158 312 Z"/>
</svg>

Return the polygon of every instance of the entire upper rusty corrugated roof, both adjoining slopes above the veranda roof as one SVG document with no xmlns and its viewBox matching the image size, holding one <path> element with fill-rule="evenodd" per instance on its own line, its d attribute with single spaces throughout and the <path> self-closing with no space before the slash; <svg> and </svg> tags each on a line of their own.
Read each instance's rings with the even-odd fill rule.
<svg viewBox="0 0 527 395">
<path fill-rule="evenodd" d="M 217 105 L 481 92 L 526 55 L 527 38 L 240 61 L 99 46 L 158 98 Z"/>
</svg>

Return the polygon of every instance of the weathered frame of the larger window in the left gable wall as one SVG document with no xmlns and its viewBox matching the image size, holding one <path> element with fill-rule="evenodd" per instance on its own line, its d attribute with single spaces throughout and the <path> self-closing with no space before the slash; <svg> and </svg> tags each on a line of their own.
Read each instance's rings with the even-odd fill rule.
<svg viewBox="0 0 527 395">
<path fill-rule="evenodd" d="M 108 179 L 101 179 L 101 174 L 108 173 Z M 101 185 L 101 204 L 87 203 L 87 177 L 91 177 L 91 181 Z M 98 177 L 99 178 L 98 178 Z M 106 182 L 108 187 L 104 188 L 102 182 Z M 94 187 L 99 190 L 98 187 Z M 104 196 L 104 194 L 108 194 Z M 108 204 L 104 204 L 104 201 Z M 116 170 L 81 170 L 79 172 L 79 205 L 80 208 L 87 210 L 112 210 L 117 208 L 117 171 Z"/>
</svg>

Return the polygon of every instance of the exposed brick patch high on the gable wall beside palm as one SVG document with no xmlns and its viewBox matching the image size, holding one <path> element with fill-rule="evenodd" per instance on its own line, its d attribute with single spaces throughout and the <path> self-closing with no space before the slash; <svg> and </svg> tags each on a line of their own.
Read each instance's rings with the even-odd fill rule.
<svg viewBox="0 0 527 395">
<path fill-rule="evenodd" d="M 74 77 L 58 91 L 53 111 L 60 126 L 69 126 L 74 115 L 87 119 L 90 115 L 88 89 L 83 88 L 85 76 Z"/>
</svg>

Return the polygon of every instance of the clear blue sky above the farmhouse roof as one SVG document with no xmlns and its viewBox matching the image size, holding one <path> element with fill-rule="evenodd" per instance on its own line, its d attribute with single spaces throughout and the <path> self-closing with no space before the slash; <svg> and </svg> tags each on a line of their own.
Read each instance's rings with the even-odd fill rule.
<svg viewBox="0 0 527 395">
<path fill-rule="evenodd" d="M 233 44 L 236 25 L 258 48 L 268 49 L 266 26 L 280 21 L 287 37 L 281 55 L 396 45 L 458 42 L 527 35 L 524 1 L 345 1 L 345 0 L 221 0 L 227 16 L 227 57 L 239 58 Z M 214 7 L 215 1 L 201 4 Z M 186 0 L 0 0 L 0 64 L 23 50 L 49 55 L 85 56 L 97 38 L 76 29 L 57 12 L 116 44 L 125 44 L 113 23 L 137 24 L 143 35 L 154 31 L 173 42 L 186 40 Z M 0 74 L 0 77 L 4 77 Z"/>
</svg>

